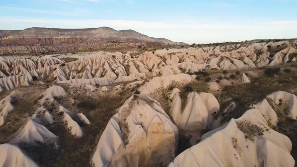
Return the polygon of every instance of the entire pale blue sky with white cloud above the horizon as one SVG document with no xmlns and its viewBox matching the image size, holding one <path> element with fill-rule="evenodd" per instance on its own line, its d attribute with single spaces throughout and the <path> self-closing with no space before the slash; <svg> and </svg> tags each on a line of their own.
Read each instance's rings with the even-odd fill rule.
<svg viewBox="0 0 297 167">
<path fill-rule="evenodd" d="M 187 43 L 297 38 L 296 0 L 1 0 L 0 29 L 133 29 Z"/>
</svg>

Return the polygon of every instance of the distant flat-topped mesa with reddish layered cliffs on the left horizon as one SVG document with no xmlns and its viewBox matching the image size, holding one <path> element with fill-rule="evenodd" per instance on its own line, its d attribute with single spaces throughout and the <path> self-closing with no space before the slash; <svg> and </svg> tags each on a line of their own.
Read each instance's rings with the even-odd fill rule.
<svg viewBox="0 0 297 167">
<path fill-rule="evenodd" d="M 29 28 L 0 31 L 0 54 L 73 51 L 138 46 L 146 42 L 175 44 L 165 38 L 151 38 L 133 30 L 108 27 L 88 29 Z"/>
</svg>

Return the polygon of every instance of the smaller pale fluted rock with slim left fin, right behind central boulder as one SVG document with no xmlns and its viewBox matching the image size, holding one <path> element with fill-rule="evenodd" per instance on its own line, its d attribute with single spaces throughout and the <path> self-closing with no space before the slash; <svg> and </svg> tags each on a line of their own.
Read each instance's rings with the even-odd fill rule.
<svg viewBox="0 0 297 167">
<path fill-rule="evenodd" d="M 202 130 L 211 128 L 213 113 L 219 111 L 216 98 L 210 93 L 190 93 L 182 112 L 179 90 L 172 91 L 170 117 L 180 130 L 180 135 L 189 138 L 192 145 L 201 139 Z"/>
</svg>

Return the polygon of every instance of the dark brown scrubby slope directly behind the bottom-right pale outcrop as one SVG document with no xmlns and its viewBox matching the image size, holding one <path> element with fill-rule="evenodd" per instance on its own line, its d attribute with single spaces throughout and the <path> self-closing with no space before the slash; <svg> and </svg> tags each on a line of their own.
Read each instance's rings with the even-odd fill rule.
<svg viewBox="0 0 297 167">
<path fill-rule="evenodd" d="M 231 118 L 237 119 L 245 111 L 250 109 L 250 105 L 262 101 L 267 95 L 276 91 L 285 91 L 296 94 L 297 73 L 279 72 L 274 77 L 259 76 L 252 78 L 249 84 L 238 84 L 225 86 L 221 94 L 217 97 L 220 104 L 220 112 L 216 117 L 222 117 L 221 123 L 228 122 Z M 222 113 L 230 102 L 234 101 L 238 107 L 228 114 Z"/>
</svg>

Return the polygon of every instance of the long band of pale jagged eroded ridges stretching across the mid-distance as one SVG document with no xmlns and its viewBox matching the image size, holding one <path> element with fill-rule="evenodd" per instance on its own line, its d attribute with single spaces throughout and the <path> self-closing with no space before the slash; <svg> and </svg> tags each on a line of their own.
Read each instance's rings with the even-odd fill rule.
<svg viewBox="0 0 297 167">
<path fill-rule="evenodd" d="M 275 43 L 279 44 L 279 42 Z M 190 80 L 190 76 L 179 75 L 180 73 L 193 74 L 196 71 L 207 69 L 247 69 L 294 61 L 296 57 L 291 54 L 297 53 L 297 49 L 286 42 L 280 43 L 281 48 L 287 47 L 286 49 L 282 49 L 270 57 L 271 48 L 275 47 L 274 51 L 281 49 L 275 43 L 162 49 L 155 52 L 144 52 L 136 56 L 131 56 L 131 52 L 110 53 L 103 51 L 43 57 L 3 56 L 0 57 L 0 91 L 14 89 L 21 85 L 28 86 L 32 84 L 34 76 L 35 79 L 36 77 L 47 77 L 49 80 L 59 83 L 93 86 L 106 86 L 117 82 L 158 76 L 146 84 L 154 87 L 151 92 L 148 89 L 143 92 L 149 94 L 159 88 L 160 84 L 168 86 L 175 79 L 181 82 Z M 229 51 L 228 49 L 234 50 Z M 259 51 L 262 53 L 259 54 Z M 78 60 L 65 63 L 64 58 Z M 178 77 L 175 78 L 175 76 Z M 243 74 L 242 81 L 249 82 L 249 78 Z M 211 89 L 217 90 L 217 86 L 212 84 Z"/>
</svg>

